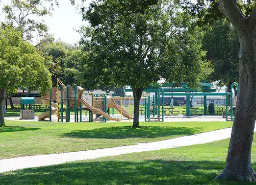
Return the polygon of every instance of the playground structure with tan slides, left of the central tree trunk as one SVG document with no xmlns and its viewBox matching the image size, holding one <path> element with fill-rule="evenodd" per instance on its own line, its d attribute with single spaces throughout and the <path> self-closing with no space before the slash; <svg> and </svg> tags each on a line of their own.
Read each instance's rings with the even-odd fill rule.
<svg viewBox="0 0 256 185">
<path fill-rule="evenodd" d="M 51 88 L 50 93 L 42 96 L 42 102 L 49 107 L 49 111 L 41 114 L 38 119 L 44 120 L 56 114 L 57 121 L 70 122 L 71 109 L 74 109 L 75 122 L 82 121 L 82 111 L 89 111 L 89 122 L 99 120 L 103 116 L 102 121 L 113 120 L 122 121 L 122 116 L 129 120 L 133 119 L 129 99 L 129 112 L 122 107 L 122 100 L 120 97 L 94 97 L 92 93 L 84 93 L 84 89 L 79 86 L 65 86 L 59 79 L 57 88 Z M 121 105 L 115 102 L 115 99 L 121 99 Z M 56 102 L 56 103 L 54 103 Z M 116 109 L 121 114 L 121 119 L 110 116 L 110 108 Z M 108 114 L 107 114 L 108 113 Z M 94 116 L 95 115 L 95 116 Z"/>
</svg>

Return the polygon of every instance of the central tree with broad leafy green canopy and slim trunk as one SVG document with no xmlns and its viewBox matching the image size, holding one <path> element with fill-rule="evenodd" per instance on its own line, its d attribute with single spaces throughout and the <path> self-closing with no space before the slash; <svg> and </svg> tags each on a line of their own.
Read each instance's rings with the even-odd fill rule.
<svg viewBox="0 0 256 185">
<path fill-rule="evenodd" d="M 136 107 L 143 89 L 161 78 L 195 87 L 211 72 L 203 35 L 198 27 L 189 28 L 192 19 L 179 4 L 158 1 L 132 13 L 129 5 L 128 0 L 94 1 L 84 12 L 90 25 L 81 29 L 80 43 L 88 52 L 79 65 L 81 81 L 130 85 Z"/>
</svg>

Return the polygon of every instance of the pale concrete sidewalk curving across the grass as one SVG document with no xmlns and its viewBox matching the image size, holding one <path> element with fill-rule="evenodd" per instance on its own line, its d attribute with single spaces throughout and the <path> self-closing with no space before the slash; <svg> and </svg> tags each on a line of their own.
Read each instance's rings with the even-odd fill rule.
<svg viewBox="0 0 256 185">
<path fill-rule="evenodd" d="M 69 152 L 62 154 L 50 154 L 40 156 L 27 156 L 21 158 L 0 160 L 0 173 L 23 169 L 29 167 L 47 166 L 52 164 L 60 164 L 64 162 L 72 162 L 77 160 L 95 159 L 105 156 L 115 156 L 120 154 L 129 154 L 133 152 L 144 152 L 152 150 L 160 150 L 167 148 L 177 148 L 180 146 L 189 146 L 193 144 L 203 144 L 217 140 L 230 138 L 232 128 L 226 128 L 191 136 L 185 136 L 175 139 L 168 139 L 150 143 L 142 143 L 137 145 L 120 146 L 114 148 L 105 148 L 97 150 L 87 150 L 80 152 Z"/>
</svg>

